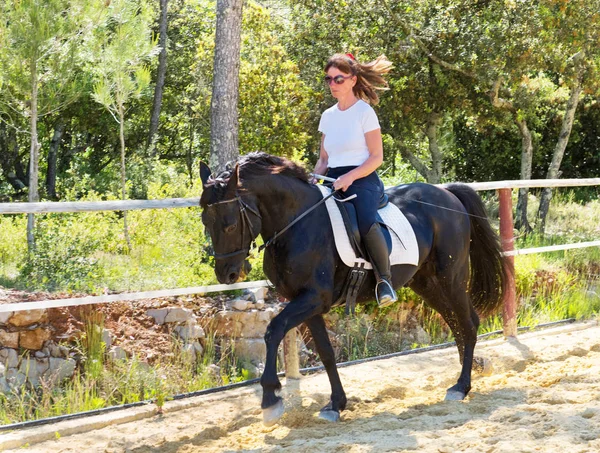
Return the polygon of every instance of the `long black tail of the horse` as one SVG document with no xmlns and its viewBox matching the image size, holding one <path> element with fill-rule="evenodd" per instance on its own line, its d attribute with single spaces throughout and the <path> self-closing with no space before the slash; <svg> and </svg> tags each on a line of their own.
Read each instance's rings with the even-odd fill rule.
<svg viewBox="0 0 600 453">
<path fill-rule="evenodd" d="M 492 229 L 481 198 L 464 184 L 445 186 L 463 204 L 471 221 L 469 294 L 475 309 L 486 316 L 502 304 L 507 291 L 510 262 L 502 254 L 500 238 Z"/>
</svg>

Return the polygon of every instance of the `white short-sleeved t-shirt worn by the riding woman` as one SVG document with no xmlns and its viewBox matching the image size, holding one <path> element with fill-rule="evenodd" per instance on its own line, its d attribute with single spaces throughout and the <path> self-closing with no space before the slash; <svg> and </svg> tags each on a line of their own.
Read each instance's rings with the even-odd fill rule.
<svg viewBox="0 0 600 453">
<path fill-rule="evenodd" d="M 365 134 L 379 129 L 373 107 L 359 99 L 352 107 L 340 110 L 338 104 L 321 115 L 319 132 L 325 134 L 323 147 L 329 168 L 362 165 L 369 158 Z"/>
</svg>

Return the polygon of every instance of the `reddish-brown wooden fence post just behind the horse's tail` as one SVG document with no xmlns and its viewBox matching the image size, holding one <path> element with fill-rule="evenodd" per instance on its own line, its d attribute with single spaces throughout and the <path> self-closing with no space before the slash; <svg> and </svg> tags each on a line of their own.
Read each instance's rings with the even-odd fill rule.
<svg viewBox="0 0 600 453">
<path fill-rule="evenodd" d="M 498 189 L 500 198 L 500 238 L 502 240 L 502 250 L 505 252 L 515 249 L 515 239 L 513 235 L 513 216 L 512 216 L 512 197 L 511 189 Z M 506 292 L 504 293 L 504 308 L 502 310 L 502 319 L 504 320 L 504 336 L 517 336 L 517 302 L 516 287 L 514 278 L 515 257 L 505 257 L 507 264 L 511 268 L 509 273 Z"/>
</svg>

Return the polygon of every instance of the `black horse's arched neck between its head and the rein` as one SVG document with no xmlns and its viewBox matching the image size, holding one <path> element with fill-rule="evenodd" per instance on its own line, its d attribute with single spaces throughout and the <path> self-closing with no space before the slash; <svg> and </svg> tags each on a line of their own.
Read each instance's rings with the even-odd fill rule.
<svg viewBox="0 0 600 453">
<path fill-rule="evenodd" d="M 260 234 L 265 240 L 289 225 L 322 197 L 311 184 L 284 175 L 264 176 L 252 181 L 250 186 L 249 190 L 258 200 L 262 217 Z"/>
</svg>

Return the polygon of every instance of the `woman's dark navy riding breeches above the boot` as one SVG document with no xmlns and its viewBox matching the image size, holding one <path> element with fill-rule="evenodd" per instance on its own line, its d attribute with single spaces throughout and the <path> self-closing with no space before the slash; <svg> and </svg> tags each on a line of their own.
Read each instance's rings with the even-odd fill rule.
<svg viewBox="0 0 600 453">
<path fill-rule="evenodd" d="M 355 166 L 328 168 L 327 176 L 337 179 L 355 168 Z M 340 191 L 336 195 L 339 198 L 346 198 L 356 194 L 356 198 L 350 200 L 349 203 L 352 203 L 356 208 L 358 229 L 362 237 L 366 236 L 371 226 L 377 222 L 377 208 L 382 193 L 383 182 L 379 179 L 377 172 L 373 172 L 364 178 L 357 179 L 348 187 L 348 190 L 345 192 Z"/>
</svg>

